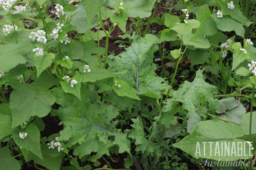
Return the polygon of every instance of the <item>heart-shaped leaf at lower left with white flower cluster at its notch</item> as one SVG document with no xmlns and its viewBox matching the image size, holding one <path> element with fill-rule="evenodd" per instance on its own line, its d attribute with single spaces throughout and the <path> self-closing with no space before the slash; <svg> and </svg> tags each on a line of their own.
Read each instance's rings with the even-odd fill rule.
<svg viewBox="0 0 256 170">
<path fill-rule="evenodd" d="M 33 154 L 38 156 L 40 159 L 43 159 L 40 148 L 40 131 L 33 123 L 29 123 L 26 127 L 25 132 L 27 136 L 22 139 L 19 137 L 19 130 L 16 130 L 12 137 L 14 142 L 19 146 L 28 149 Z"/>
</svg>

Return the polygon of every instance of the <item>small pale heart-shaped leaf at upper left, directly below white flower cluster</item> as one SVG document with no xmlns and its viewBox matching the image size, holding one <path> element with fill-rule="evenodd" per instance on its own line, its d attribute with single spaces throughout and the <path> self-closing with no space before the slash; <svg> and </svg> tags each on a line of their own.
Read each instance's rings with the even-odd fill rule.
<svg viewBox="0 0 256 170">
<path fill-rule="evenodd" d="M 47 53 L 45 55 L 34 55 L 34 62 L 36 64 L 37 77 L 49 67 L 49 64 L 54 59 L 55 55 L 53 53 Z"/>
</svg>

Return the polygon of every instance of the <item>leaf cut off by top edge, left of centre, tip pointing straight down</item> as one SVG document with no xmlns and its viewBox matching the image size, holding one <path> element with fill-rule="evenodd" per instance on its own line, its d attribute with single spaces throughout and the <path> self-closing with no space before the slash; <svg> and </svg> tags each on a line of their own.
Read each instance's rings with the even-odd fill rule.
<svg viewBox="0 0 256 170">
<path fill-rule="evenodd" d="M 85 12 L 88 23 L 91 23 L 94 16 L 99 12 L 99 8 L 102 5 L 103 0 L 83 0 L 83 2 L 87 5 L 85 6 Z"/>
</svg>

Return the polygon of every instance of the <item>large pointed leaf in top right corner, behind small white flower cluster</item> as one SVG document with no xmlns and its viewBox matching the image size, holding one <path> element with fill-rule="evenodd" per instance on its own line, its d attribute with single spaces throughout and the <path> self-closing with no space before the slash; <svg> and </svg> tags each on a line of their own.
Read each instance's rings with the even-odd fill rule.
<svg viewBox="0 0 256 170">
<path fill-rule="evenodd" d="M 243 25 L 245 25 L 246 27 L 249 27 L 253 22 L 249 21 L 248 18 L 246 18 L 242 12 L 240 11 L 240 6 L 239 6 L 239 1 L 234 0 L 234 9 L 229 9 L 227 7 L 227 3 L 230 3 L 229 0 L 221 1 L 221 0 L 217 0 L 217 3 L 220 5 L 221 9 L 222 9 L 222 13 L 223 15 L 230 15 L 231 18 L 239 21 L 240 23 L 242 23 Z"/>
</svg>

